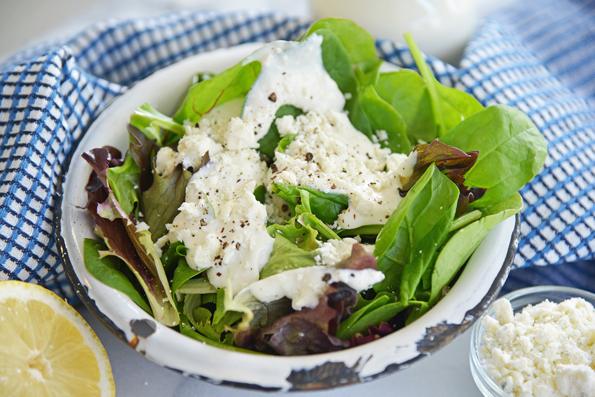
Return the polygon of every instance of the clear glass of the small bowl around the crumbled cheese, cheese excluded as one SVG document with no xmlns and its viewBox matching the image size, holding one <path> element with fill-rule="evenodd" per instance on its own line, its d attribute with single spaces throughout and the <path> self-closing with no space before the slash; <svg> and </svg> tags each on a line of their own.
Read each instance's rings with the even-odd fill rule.
<svg viewBox="0 0 595 397">
<path fill-rule="evenodd" d="M 504 295 L 512 305 L 512 310 L 517 313 L 527 305 L 536 305 L 549 300 L 550 302 L 560 303 L 569 298 L 583 298 L 585 301 L 595 306 L 595 294 L 583 291 L 578 288 L 570 288 L 566 286 L 555 285 L 541 285 L 532 286 L 529 288 L 518 289 L 509 294 Z M 487 310 L 477 319 L 471 330 L 471 351 L 469 352 L 469 364 L 471 366 L 471 375 L 475 380 L 475 384 L 480 389 L 480 392 L 486 397 L 510 397 L 508 393 L 502 390 L 502 387 L 496 385 L 486 370 L 481 364 L 480 345 L 481 335 L 484 327 L 482 320 L 486 316 L 494 316 L 494 304 L 492 303 Z"/>
</svg>

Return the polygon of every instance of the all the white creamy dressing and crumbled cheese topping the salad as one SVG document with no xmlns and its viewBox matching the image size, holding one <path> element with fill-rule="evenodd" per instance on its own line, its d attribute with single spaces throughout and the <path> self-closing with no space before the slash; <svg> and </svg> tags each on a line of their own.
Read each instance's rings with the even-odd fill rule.
<svg viewBox="0 0 595 397">
<path fill-rule="evenodd" d="M 186 202 L 168 225 L 168 240 L 182 241 L 189 248 L 189 266 L 208 268 L 206 275 L 212 285 L 229 285 L 233 295 L 249 289 L 264 302 L 286 296 L 292 298 L 295 308 L 315 307 L 329 283 L 343 281 L 361 291 L 384 278 L 377 270 L 329 268 L 349 256 L 356 241 L 345 239 L 321 244 L 317 256 L 321 266 L 258 281 L 274 242 L 266 230 L 267 206 L 280 204 L 278 200 L 268 200 L 267 206 L 259 203 L 253 194 L 258 185 L 270 187 L 275 180 L 345 193 L 350 206 L 334 226 L 355 228 L 386 222 L 400 200 L 398 175 L 411 174 L 415 164 L 415 154 L 409 159 L 391 155 L 390 150 L 381 149 L 353 128 L 343 113 L 345 97 L 322 65 L 321 42 L 322 37 L 313 34 L 302 43 L 273 42 L 256 51 L 243 62 L 258 60 L 262 64 L 243 108 L 239 100 L 215 108 L 198 125 L 186 125 L 177 152 L 159 150 L 159 174 L 171 172 L 179 163 L 196 171 L 208 151 L 209 163 L 190 179 Z M 267 175 L 256 148 L 284 104 L 308 113 L 277 122 L 282 135 L 298 136 L 285 153 L 277 153 L 277 172 L 269 170 Z M 306 159 L 308 153 L 313 159 Z M 327 273 L 330 279 L 324 281 Z"/>
</svg>

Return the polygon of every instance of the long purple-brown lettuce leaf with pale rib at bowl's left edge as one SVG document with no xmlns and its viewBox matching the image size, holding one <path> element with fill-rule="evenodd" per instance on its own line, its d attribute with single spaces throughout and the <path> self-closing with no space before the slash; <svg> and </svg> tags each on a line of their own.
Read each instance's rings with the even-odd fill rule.
<svg viewBox="0 0 595 397">
<path fill-rule="evenodd" d="M 124 260 L 145 291 L 155 319 L 168 326 L 176 325 L 180 317 L 151 234 L 136 229 L 107 182 L 111 157 L 112 153 L 107 148 L 83 153 L 83 158 L 93 168 L 87 184 L 89 202 L 86 207 L 95 220 L 96 233 L 104 238 L 108 246 L 101 256 L 114 255 Z M 104 185 L 104 193 L 100 192 L 97 179 Z M 102 198 L 104 201 L 100 201 Z"/>
</svg>

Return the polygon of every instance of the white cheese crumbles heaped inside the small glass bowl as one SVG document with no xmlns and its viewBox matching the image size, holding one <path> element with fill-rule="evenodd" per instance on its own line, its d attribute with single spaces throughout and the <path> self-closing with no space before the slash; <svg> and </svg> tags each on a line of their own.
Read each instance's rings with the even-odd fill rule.
<svg viewBox="0 0 595 397">
<path fill-rule="evenodd" d="M 484 317 L 480 358 L 506 393 L 595 397 L 595 309 L 581 298 L 544 301 L 513 314 L 509 301 Z"/>
</svg>

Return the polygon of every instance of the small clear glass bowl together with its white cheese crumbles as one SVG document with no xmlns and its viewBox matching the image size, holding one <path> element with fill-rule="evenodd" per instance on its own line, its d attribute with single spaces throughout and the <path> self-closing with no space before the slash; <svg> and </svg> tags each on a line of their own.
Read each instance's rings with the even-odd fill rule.
<svg viewBox="0 0 595 397">
<path fill-rule="evenodd" d="M 595 396 L 595 294 L 519 289 L 494 301 L 471 335 L 471 373 L 484 396 Z"/>
</svg>

